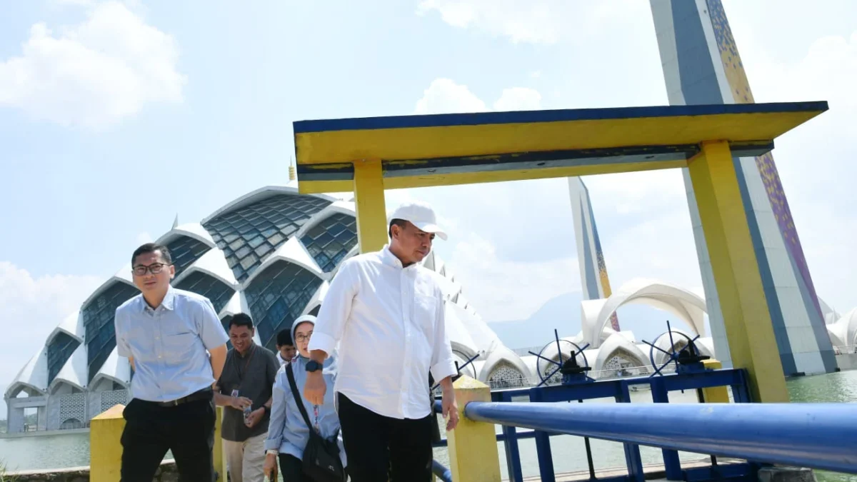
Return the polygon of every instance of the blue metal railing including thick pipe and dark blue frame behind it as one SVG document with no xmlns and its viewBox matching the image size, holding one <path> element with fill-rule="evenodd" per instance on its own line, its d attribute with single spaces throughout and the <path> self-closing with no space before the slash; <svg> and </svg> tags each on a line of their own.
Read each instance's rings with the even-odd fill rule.
<svg viewBox="0 0 857 482">
<path fill-rule="evenodd" d="M 758 468 L 769 463 L 857 473 L 857 406 L 752 404 L 745 371 L 681 368 L 662 377 L 570 379 L 561 385 L 492 391 L 492 402 L 471 402 L 465 416 L 502 427 L 496 438 L 505 445 L 512 482 L 524 479 L 518 449 L 518 441 L 524 438 L 536 440 L 542 482 L 553 482 L 549 437 L 565 434 L 582 436 L 585 442 L 592 437 L 623 443 L 627 475 L 606 478 L 596 476 L 590 445 L 585 444 L 590 480 L 598 482 L 644 480 L 639 445 L 662 448 L 663 470 L 669 480 L 755 480 Z M 628 403 L 631 387 L 641 384 L 649 386 L 654 404 Z M 695 390 L 698 400 L 704 402 L 702 389 L 710 387 L 730 388 L 734 404 L 668 405 L 671 391 Z M 617 403 L 556 403 L 605 397 Z M 519 403 L 522 398 L 530 403 Z M 440 413 L 441 401 L 434 406 Z M 616 423 L 620 416 L 622 421 Z M 731 424 L 728 429 L 724 421 Z M 533 430 L 519 431 L 518 427 Z M 834 435 L 840 433 L 843 443 L 835 441 Z M 434 446 L 446 446 L 446 439 Z M 681 467 L 679 450 L 710 455 L 710 467 Z M 741 461 L 720 464 L 718 455 Z"/>
</svg>

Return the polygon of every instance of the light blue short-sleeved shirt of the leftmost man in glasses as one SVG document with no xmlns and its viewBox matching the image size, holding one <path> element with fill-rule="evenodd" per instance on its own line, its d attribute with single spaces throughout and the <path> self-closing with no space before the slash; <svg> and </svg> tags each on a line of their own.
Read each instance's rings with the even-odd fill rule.
<svg viewBox="0 0 857 482">
<path fill-rule="evenodd" d="M 174 401 L 214 383 L 206 350 L 229 340 L 208 298 L 172 286 L 152 309 L 143 295 L 116 309 L 116 346 L 134 358 L 131 396 Z"/>
</svg>

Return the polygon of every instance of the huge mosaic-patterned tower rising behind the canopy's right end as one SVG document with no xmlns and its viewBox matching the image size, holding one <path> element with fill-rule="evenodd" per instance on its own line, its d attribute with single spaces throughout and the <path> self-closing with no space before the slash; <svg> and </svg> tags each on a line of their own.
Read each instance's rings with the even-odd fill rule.
<svg viewBox="0 0 857 482">
<path fill-rule="evenodd" d="M 721 0 L 650 0 L 670 105 L 752 103 Z M 800 238 L 771 154 L 735 158 L 741 196 L 786 376 L 836 370 Z M 715 352 L 731 366 L 693 188 L 684 169 Z"/>
</svg>

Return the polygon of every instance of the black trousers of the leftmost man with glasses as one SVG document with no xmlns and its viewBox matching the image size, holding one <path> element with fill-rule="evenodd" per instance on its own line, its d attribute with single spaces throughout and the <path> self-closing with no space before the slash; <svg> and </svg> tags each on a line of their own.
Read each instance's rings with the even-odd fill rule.
<svg viewBox="0 0 857 482">
<path fill-rule="evenodd" d="M 172 450 L 183 482 L 214 481 L 213 398 L 175 407 L 133 399 L 123 417 L 121 482 L 152 482 L 167 450 Z"/>
</svg>

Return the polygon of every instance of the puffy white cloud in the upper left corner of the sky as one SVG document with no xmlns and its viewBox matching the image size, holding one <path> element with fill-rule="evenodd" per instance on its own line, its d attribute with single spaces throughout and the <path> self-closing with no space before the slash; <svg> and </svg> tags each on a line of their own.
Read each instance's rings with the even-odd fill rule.
<svg viewBox="0 0 857 482">
<path fill-rule="evenodd" d="M 123 3 L 98 3 L 78 25 L 56 32 L 44 22 L 30 27 L 21 54 L 0 60 L 0 106 L 103 129 L 148 103 L 181 102 L 187 78 L 177 62 L 171 35 Z"/>
</svg>

